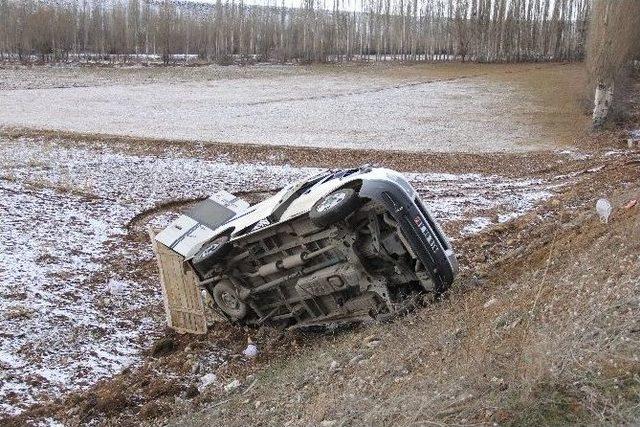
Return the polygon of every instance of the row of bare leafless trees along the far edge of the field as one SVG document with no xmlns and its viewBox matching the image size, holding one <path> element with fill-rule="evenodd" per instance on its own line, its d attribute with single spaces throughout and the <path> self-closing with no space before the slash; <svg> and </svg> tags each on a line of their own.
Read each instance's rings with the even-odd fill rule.
<svg viewBox="0 0 640 427">
<path fill-rule="evenodd" d="M 0 59 L 579 60 L 591 8 L 591 0 L 349 1 L 0 0 Z"/>
</svg>

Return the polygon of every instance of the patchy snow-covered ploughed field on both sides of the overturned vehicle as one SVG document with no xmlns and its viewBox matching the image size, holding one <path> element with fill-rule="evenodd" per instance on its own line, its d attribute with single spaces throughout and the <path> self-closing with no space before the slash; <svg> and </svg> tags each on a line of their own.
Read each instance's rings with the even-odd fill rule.
<svg viewBox="0 0 640 427">
<path fill-rule="evenodd" d="M 152 252 L 128 234 L 136 214 L 215 189 L 274 190 L 317 172 L 28 139 L 1 140 L 0 159 L 0 414 L 136 363 L 161 333 Z M 480 174 L 408 178 L 445 227 L 463 234 L 522 214 L 558 185 Z M 161 226 L 167 215 L 149 219 Z"/>
</svg>

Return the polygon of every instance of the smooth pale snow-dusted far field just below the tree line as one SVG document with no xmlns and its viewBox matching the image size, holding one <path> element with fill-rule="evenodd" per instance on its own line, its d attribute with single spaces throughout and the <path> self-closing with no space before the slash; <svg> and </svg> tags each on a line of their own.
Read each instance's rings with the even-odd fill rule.
<svg viewBox="0 0 640 427">
<path fill-rule="evenodd" d="M 0 126 L 324 148 L 544 150 L 571 145 L 584 129 L 575 96 L 583 74 L 581 65 L 557 64 L 5 69 Z"/>
</svg>

